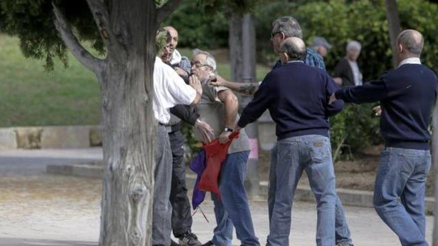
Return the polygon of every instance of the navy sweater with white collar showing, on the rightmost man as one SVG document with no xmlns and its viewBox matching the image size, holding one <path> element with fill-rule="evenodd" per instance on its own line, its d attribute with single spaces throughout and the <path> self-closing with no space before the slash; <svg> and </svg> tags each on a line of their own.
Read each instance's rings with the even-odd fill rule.
<svg viewBox="0 0 438 246">
<path fill-rule="evenodd" d="M 335 96 L 345 102 L 380 101 L 380 132 L 386 146 L 428 150 L 431 108 L 437 76 L 426 66 L 405 64 L 362 86 L 346 87 Z"/>
</svg>

